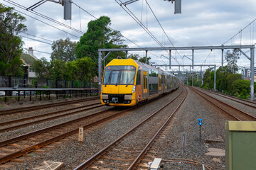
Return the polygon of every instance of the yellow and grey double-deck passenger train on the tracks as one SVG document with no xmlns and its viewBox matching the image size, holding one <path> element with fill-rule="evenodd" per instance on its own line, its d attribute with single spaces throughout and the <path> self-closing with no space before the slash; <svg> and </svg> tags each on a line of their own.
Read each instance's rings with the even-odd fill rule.
<svg viewBox="0 0 256 170">
<path fill-rule="evenodd" d="M 105 106 L 135 106 L 178 86 L 173 74 L 136 60 L 114 59 L 105 67 L 100 101 Z"/>
</svg>

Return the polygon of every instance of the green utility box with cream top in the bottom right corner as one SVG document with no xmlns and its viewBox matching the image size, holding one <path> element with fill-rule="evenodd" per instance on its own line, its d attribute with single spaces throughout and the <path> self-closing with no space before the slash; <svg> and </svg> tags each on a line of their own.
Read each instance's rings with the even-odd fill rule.
<svg viewBox="0 0 256 170">
<path fill-rule="evenodd" d="M 255 121 L 225 121 L 225 168 L 256 169 Z"/>
</svg>

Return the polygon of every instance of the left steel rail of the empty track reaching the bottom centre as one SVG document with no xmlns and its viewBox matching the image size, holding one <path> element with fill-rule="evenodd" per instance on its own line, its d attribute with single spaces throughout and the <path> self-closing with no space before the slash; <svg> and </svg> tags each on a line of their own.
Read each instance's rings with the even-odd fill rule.
<svg viewBox="0 0 256 170">
<path fill-rule="evenodd" d="M 180 94 L 178 94 L 178 96 L 181 96 L 183 91 L 181 91 Z M 178 96 L 176 96 L 176 98 L 178 98 Z M 103 148 L 100 150 L 100 152 L 97 152 L 97 154 L 93 155 L 92 157 L 90 157 L 90 159 L 87 159 L 87 161 L 83 162 L 82 164 L 80 164 L 79 166 L 77 166 L 74 170 L 82 170 L 82 169 L 86 169 L 88 166 L 90 166 L 93 162 L 95 162 L 97 159 L 99 159 L 100 157 L 102 157 L 103 154 L 105 154 L 105 152 L 107 152 L 109 149 L 111 149 L 111 147 L 113 147 L 114 145 L 117 144 L 117 142 L 119 142 L 120 140 L 124 139 L 124 137 L 126 137 L 127 135 L 129 135 L 131 132 L 133 132 L 134 130 L 136 130 L 137 128 L 139 128 L 141 125 L 143 125 L 147 120 L 149 120 L 150 118 L 154 117 L 154 115 L 156 115 L 157 113 L 159 113 L 161 110 L 163 110 L 164 108 L 166 108 L 166 106 L 169 106 L 170 103 L 172 103 L 176 98 L 174 98 L 173 100 L 171 100 L 169 103 L 166 103 L 165 106 L 163 106 L 162 108 L 160 108 L 158 111 L 156 111 L 155 113 L 152 113 L 148 118 L 146 118 L 145 120 L 142 121 L 142 123 L 139 123 L 139 125 L 134 126 L 134 128 L 132 128 L 131 130 L 129 130 L 128 132 L 125 132 L 123 135 L 121 135 L 120 137 L 117 138 L 117 140 L 115 140 L 114 142 L 110 143 L 109 145 L 107 145 L 107 147 Z"/>
</svg>

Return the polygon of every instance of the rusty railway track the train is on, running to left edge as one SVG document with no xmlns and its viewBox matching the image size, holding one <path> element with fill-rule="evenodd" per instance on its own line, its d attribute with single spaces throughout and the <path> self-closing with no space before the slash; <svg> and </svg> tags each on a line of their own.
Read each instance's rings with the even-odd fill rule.
<svg viewBox="0 0 256 170">
<path fill-rule="evenodd" d="M 149 104 L 151 101 L 144 104 Z M 119 111 L 119 108 L 110 108 L 107 111 L 100 111 L 91 115 L 86 115 L 82 118 L 70 120 L 65 123 L 60 123 L 58 125 L 28 132 L 24 135 L 19 135 L 18 137 L 12 137 L 8 140 L 1 141 L 0 164 L 9 162 L 11 159 L 21 157 L 23 154 L 33 152 L 35 149 L 39 149 L 58 140 L 62 140 L 70 135 L 77 134 L 78 128 L 80 127 L 84 129 L 94 127 L 138 107 L 140 106 L 127 108 L 122 111 Z"/>
</svg>

